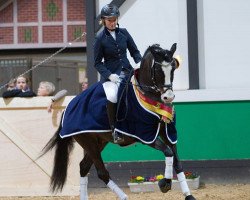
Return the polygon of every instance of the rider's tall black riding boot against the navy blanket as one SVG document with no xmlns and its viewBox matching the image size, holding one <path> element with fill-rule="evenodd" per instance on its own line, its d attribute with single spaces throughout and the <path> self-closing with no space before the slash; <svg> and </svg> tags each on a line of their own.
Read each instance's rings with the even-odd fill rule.
<svg viewBox="0 0 250 200">
<path fill-rule="evenodd" d="M 117 104 L 108 101 L 107 114 L 108 114 L 108 118 L 109 118 L 109 124 L 110 124 L 111 130 L 112 130 L 112 136 L 114 138 L 114 143 L 121 143 L 124 141 L 124 139 L 123 139 L 122 135 L 118 134 L 115 131 L 116 109 L 117 109 Z"/>
</svg>

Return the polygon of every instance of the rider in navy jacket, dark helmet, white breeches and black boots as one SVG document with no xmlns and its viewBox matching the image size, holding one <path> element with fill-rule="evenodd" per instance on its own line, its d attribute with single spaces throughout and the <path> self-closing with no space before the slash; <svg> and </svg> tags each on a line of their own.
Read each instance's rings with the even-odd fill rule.
<svg viewBox="0 0 250 200">
<path fill-rule="evenodd" d="M 96 36 L 94 42 L 95 68 L 101 75 L 107 96 L 107 114 L 115 143 L 123 141 L 114 131 L 118 88 L 121 77 L 133 69 L 127 58 L 127 49 L 137 65 L 142 59 L 131 35 L 125 28 L 119 28 L 119 16 L 119 9 L 115 5 L 107 4 L 102 8 L 100 22 L 104 29 Z"/>
</svg>

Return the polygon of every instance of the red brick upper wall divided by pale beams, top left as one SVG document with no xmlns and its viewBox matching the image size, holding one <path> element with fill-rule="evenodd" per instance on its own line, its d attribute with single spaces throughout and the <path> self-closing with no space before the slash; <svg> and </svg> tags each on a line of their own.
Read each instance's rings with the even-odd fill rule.
<svg viewBox="0 0 250 200">
<path fill-rule="evenodd" d="M 39 6 L 38 0 L 17 0 L 17 24 L 14 24 L 14 3 L 0 10 L 0 48 L 5 48 L 3 44 L 30 45 L 40 44 L 46 47 L 49 43 L 62 43 L 64 41 L 72 42 L 86 31 L 85 0 L 67 0 L 67 22 L 74 22 L 74 25 L 66 24 L 67 38 L 63 31 L 63 2 L 64 0 L 42 0 L 42 10 L 40 21 L 42 21 L 42 30 L 39 32 Z M 51 22 L 48 24 L 47 22 Z M 61 24 L 58 24 L 61 23 Z M 77 23 L 79 22 L 79 24 Z M 8 25 L 6 26 L 6 24 Z M 27 23 L 27 24 L 26 24 Z M 32 24 L 30 24 L 32 23 Z M 55 23 L 55 24 L 53 24 Z M 65 24 L 64 24 L 65 25 Z M 17 33 L 13 30 L 17 29 Z M 17 34 L 17 35 L 14 35 Z M 39 35 L 41 37 L 39 37 Z M 17 38 L 17 44 L 14 44 L 14 38 Z M 42 41 L 39 40 L 41 38 Z M 65 40 L 64 40 L 65 39 Z M 82 42 L 86 41 L 83 37 Z M 39 46 L 36 46 L 39 47 Z M 58 47 L 58 45 L 57 45 Z"/>
</svg>

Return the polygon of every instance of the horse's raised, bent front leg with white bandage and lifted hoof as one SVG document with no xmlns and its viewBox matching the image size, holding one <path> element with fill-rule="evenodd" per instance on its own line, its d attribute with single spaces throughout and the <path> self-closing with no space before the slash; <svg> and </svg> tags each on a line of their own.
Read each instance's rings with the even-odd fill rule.
<svg viewBox="0 0 250 200">
<path fill-rule="evenodd" d="M 172 149 L 162 141 L 162 139 L 157 138 L 151 147 L 160 150 L 165 155 L 165 173 L 164 178 L 158 182 L 161 192 L 166 193 L 171 190 L 172 179 L 173 179 L 173 152 Z"/>
</svg>

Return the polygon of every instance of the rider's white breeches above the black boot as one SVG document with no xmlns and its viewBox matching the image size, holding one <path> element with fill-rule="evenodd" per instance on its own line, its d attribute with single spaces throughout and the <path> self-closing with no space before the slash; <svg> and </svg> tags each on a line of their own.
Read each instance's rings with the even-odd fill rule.
<svg viewBox="0 0 250 200">
<path fill-rule="evenodd" d="M 104 88 L 104 92 L 106 94 L 106 97 L 109 101 L 112 103 L 117 103 L 117 94 L 118 94 L 118 88 L 120 86 L 120 83 L 114 83 L 111 81 L 107 81 L 102 84 Z"/>
</svg>

